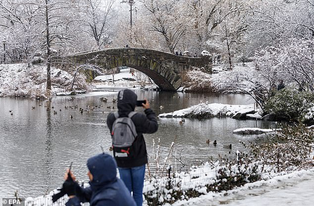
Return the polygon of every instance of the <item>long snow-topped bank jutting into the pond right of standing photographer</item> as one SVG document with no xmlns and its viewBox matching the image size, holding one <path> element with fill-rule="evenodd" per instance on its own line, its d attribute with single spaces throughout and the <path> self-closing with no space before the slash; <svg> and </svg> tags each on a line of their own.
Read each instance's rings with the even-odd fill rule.
<svg viewBox="0 0 314 206">
<path fill-rule="evenodd" d="M 247 114 L 258 114 L 259 110 L 254 107 L 254 104 L 248 105 L 232 105 L 222 103 L 200 103 L 189 108 L 180 109 L 174 112 L 162 113 L 158 117 L 177 118 L 177 117 L 191 117 L 191 118 L 209 118 L 215 116 L 229 116 L 236 119 L 245 119 Z"/>
</svg>

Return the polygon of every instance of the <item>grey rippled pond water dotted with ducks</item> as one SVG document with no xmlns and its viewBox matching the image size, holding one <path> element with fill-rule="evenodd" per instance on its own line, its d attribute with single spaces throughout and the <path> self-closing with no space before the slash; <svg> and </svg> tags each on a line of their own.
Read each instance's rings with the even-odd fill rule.
<svg viewBox="0 0 314 206">
<path fill-rule="evenodd" d="M 247 95 L 204 95 L 173 92 L 137 91 L 138 99 L 147 98 L 156 114 L 187 108 L 200 101 L 209 103 L 249 104 Z M 51 102 L 24 98 L 0 98 L 0 197 L 12 197 L 17 190 L 21 197 L 37 197 L 48 194 L 63 182 L 65 169 L 73 162 L 72 170 L 77 178 L 88 182 L 87 159 L 102 152 L 110 153 L 111 145 L 106 117 L 116 110 L 117 93 L 102 96 L 53 97 Z M 41 105 L 41 103 L 43 105 Z M 71 106 L 84 109 L 87 105 L 103 105 L 82 114 Z M 160 108 L 160 105 L 163 108 Z M 35 106 L 35 109 L 32 107 Z M 53 108 L 52 108 L 53 106 Z M 65 109 L 65 106 L 70 106 Z M 107 108 L 111 106 L 111 108 Z M 47 107 L 51 110 L 47 111 Z M 61 109 L 61 111 L 60 111 Z M 12 110 L 12 112 L 9 112 Z M 53 112 L 55 110 L 57 113 Z M 142 107 L 136 111 L 142 111 Z M 11 115 L 13 113 L 13 115 Z M 73 116 L 71 119 L 70 116 Z M 257 136 L 234 135 L 232 131 L 242 127 L 269 128 L 271 122 L 255 120 L 235 120 L 226 118 L 186 119 L 157 118 L 159 129 L 154 134 L 146 134 L 145 140 L 149 161 L 154 161 L 153 139 L 160 138 L 160 156 L 168 155 L 171 142 L 176 137 L 173 154 L 183 161 L 207 160 L 218 154 L 233 155 L 243 150 L 239 140 L 254 140 Z M 206 144 L 206 140 L 210 141 Z M 217 146 L 212 141 L 217 140 Z M 232 150 L 223 145 L 232 144 Z M 231 154 L 229 154 L 229 151 Z"/>
</svg>

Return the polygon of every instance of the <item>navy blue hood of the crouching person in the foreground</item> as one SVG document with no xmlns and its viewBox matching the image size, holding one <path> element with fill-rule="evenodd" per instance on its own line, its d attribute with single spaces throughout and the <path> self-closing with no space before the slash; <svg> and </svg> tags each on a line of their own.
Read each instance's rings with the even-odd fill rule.
<svg viewBox="0 0 314 206">
<path fill-rule="evenodd" d="M 93 190 L 103 188 L 110 182 L 116 181 L 117 165 L 109 154 L 98 154 L 87 160 L 87 167 L 93 175 L 90 185 Z"/>
</svg>

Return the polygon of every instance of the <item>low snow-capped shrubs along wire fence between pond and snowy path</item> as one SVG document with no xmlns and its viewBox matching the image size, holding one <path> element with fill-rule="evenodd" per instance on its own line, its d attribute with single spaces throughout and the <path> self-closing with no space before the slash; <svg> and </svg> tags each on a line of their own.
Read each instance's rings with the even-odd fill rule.
<svg viewBox="0 0 314 206">
<path fill-rule="evenodd" d="M 199 197 L 210 191 L 227 191 L 261 180 L 258 162 L 238 163 L 232 159 L 221 159 L 192 166 L 190 172 L 174 173 L 171 178 L 157 180 L 155 190 L 144 193 L 145 199 L 149 206 L 172 204 L 178 200 Z M 188 181 L 193 180 L 196 183 L 189 184 Z"/>
</svg>

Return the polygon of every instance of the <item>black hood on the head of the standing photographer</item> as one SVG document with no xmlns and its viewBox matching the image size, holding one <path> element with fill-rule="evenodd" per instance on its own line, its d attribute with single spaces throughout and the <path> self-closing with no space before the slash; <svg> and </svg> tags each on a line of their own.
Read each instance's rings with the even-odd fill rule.
<svg viewBox="0 0 314 206">
<path fill-rule="evenodd" d="M 137 101 L 137 95 L 132 90 L 121 90 L 118 94 L 118 112 L 119 116 L 128 116 L 134 111 Z"/>
</svg>

